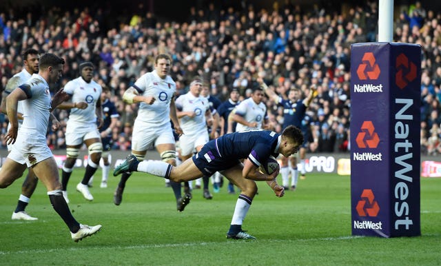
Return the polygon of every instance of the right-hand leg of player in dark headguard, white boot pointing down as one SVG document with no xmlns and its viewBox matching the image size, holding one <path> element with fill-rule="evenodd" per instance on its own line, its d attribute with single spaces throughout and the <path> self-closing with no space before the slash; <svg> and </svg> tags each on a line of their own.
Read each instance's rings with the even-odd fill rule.
<svg viewBox="0 0 441 266">
<path fill-rule="evenodd" d="M 96 130 L 96 132 L 91 132 L 91 134 L 94 134 L 94 136 L 98 134 L 99 136 L 98 130 Z M 87 138 L 88 135 L 89 134 L 86 134 L 85 138 Z M 83 180 L 76 185 L 76 190 L 81 192 L 84 198 L 88 201 L 93 201 L 94 197 L 89 191 L 88 183 L 90 178 L 92 178 L 99 167 L 101 153 L 103 152 L 103 143 L 101 143 L 101 139 L 99 137 L 85 139 L 84 143 L 86 147 L 88 147 L 88 165 L 85 167 Z"/>
</svg>

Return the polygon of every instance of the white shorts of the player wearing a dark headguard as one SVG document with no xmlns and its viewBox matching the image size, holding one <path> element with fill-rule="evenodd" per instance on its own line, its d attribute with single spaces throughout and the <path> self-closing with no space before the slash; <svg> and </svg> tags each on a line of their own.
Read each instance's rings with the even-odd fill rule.
<svg viewBox="0 0 441 266">
<path fill-rule="evenodd" d="M 100 139 L 98 127 L 94 123 L 68 123 L 66 127 L 66 145 L 76 146 L 83 144 L 86 139 Z"/>
</svg>

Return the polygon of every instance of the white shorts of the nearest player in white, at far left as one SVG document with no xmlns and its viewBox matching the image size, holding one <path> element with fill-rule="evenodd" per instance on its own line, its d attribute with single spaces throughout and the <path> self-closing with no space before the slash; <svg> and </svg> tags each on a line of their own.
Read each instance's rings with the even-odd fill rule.
<svg viewBox="0 0 441 266">
<path fill-rule="evenodd" d="M 46 139 L 36 139 L 35 136 L 19 134 L 17 141 L 12 145 L 8 158 L 21 165 L 31 167 L 47 158 L 54 156 L 46 144 Z"/>
</svg>

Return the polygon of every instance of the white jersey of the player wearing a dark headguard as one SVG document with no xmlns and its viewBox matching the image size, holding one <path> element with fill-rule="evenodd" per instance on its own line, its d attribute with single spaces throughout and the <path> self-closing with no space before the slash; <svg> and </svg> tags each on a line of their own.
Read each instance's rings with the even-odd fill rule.
<svg viewBox="0 0 441 266">
<path fill-rule="evenodd" d="M 79 103 L 81 101 L 88 103 L 88 107 L 84 110 L 79 108 L 72 108 L 69 114 L 68 123 L 96 123 L 96 101 L 99 101 L 103 88 L 95 81 L 87 83 L 79 76 L 72 79 L 64 86 L 64 91 L 72 95 L 72 103 Z"/>
</svg>

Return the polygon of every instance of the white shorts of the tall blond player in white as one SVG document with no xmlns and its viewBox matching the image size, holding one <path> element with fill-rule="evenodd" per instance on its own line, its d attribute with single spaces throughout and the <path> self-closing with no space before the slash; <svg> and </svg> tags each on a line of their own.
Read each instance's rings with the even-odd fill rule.
<svg viewBox="0 0 441 266">
<path fill-rule="evenodd" d="M 172 125 L 162 125 L 161 127 L 152 126 L 135 120 L 132 133 L 132 150 L 143 152 L 150 149 L 153 145 L 175 144 Z"/>
</svg>

